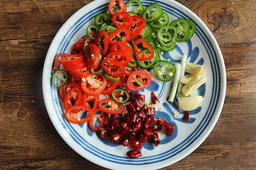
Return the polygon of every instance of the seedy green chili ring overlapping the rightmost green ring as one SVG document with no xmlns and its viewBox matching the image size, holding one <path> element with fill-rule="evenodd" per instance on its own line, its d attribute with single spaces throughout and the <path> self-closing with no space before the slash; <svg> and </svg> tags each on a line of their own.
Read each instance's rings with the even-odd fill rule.
<svg viewBox="0 0 256 170">
<path fill-rule="evenodd" d="M 178 20 L 172 21 L 170 23 L 170 25 L 177 28 L 177 31 L 178 31 L 177 41 L 178 42 L 183 42 L 188 39 L 190 26 L 189 26 L 187 20 L 180 18 Z"/>
</svg>

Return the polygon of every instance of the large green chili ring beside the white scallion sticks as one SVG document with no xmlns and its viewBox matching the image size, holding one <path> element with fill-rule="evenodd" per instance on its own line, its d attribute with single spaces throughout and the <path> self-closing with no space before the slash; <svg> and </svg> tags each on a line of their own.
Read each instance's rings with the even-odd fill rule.
<svg viewBox="0 0 256 170">
<path fill-rule="evenodd" d="M 169 61 L 159 60 L 153 66 L 157 78 L 163 82 L 172 80 L 176 72 L 174 64 Z"/>
</svg>

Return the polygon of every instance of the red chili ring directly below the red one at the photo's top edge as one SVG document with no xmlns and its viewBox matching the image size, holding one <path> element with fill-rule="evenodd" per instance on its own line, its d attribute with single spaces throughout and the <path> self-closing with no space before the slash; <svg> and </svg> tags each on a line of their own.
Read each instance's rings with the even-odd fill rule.
<svg viewBox="0 0 256 170">
<path fill-rule="evenodd" d="M 112 16 L 112 23 L 117 28 L 129 29 L 133 25 L 133 19 L 127 12 L 116 12 Z"/>
</svg>

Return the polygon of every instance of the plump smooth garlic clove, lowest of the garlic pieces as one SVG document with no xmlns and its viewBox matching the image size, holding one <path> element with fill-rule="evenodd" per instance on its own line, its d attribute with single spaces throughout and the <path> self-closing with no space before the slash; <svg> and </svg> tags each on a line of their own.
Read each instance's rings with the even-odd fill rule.
<svg viewBox="0 0 256 170">
<path fill-rule="evenodd" d="M 202 96 L 191 96 L 178 98 L 179 109 L 184 111 L 192 111 L 198 107 L 204 98 Z"/>
</svg>

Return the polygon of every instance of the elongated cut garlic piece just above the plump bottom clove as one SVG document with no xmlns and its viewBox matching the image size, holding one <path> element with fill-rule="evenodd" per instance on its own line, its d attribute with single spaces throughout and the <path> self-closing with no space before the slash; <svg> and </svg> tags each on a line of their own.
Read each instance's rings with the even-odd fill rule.
<svg viewBox="0 0 256 170">
<path fill-rule="evenodd" d="M 202 86 L 202 84 L 204 84 L 205 82 L 206 82 L 206 77 L 197 75 L 196 78 L 194 78 L 188 84 L 183 86 L 182 93 L 184 94 L 184 96 L 187 97 L 190 94 L 192 94 L 196 89 L 198 89 L 200 86 Z"/>
</svg>

